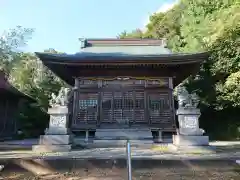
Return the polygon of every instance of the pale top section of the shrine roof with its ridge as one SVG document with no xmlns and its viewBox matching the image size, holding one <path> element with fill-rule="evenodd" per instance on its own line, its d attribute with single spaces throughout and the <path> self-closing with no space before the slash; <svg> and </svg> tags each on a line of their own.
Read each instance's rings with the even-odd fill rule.
<svg viewBox="0 0 240 180">
<path fill-rule="evenodd" d="M 119 55 L 159 55 L 170 54 L 165 41 L 159 39 L 80 39 L 81 53 L 111 53 Z"/>
</svg>

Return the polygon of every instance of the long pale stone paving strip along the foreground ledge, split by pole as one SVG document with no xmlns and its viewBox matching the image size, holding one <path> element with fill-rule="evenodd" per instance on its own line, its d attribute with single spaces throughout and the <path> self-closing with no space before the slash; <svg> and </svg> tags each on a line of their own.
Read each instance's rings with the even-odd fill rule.
<svg viewBox="0 0 240 180">
<path fill-rule="evenodd" d="M 125 148 L 96 148 L 96 149 L 83 149 L 71 152 L 58 152 L 58 153 L 35 153 L 32 151 L 1 151 L 0 160 L 6 159 L 65 159 L 65 158 L 76 158 L 76 159 L 114 159 L 114 158 L 125 158 Z M 207 160 L 207 159 L 239 159 L 240 151 L 238 152 L 220 152 L 220 153 L 170 153 L 161 152 L 151 149 L 132 149 L 132 158 L 134 159 L 163 159 L 163 160 Z"/>
</svg>

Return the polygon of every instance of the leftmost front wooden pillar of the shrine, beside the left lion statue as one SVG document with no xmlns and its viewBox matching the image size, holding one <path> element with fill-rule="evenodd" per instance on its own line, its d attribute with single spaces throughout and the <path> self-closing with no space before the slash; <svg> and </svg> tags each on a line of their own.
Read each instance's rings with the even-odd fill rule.
<svg viewBox="0 0 240 180">
<path fill-rule="evenodd" d="M 79 110 L 79 79 L 75 78 L 74 88 L 73 88 L 73 116 L 72 116 L 72 125 L 74 125 L 78 118 L 78 110 Z"/>
</svg>

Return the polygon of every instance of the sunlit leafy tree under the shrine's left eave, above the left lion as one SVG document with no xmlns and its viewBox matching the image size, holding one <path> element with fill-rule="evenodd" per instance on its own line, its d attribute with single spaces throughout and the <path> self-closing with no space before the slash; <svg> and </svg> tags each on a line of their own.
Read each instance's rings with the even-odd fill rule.
<svg viewBox="0 0 240 180">
<path fill-rule="evenodd" d="M 46 50 L 48 51 L 48 50 Z M 11 82 L 22 92 L 34 97 L 45 110 L 52 93 L 57 93 L 66 84 L 56 77 L 42 62 L 31 53 L 19 53 L 14 63 Z"/>
</svg>

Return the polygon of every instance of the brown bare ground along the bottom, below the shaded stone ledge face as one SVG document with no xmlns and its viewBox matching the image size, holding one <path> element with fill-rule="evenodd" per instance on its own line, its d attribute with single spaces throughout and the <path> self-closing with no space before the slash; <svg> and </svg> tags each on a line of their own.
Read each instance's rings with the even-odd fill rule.
<svg viewBox="0 0 240 180">
<path fill-rule="evenodd" d="M 210 163 L 211 164 L 211 163 Z M 157 168 L 133 169 L 133 180 L 239 180 L 240 166 L 229 162 L 209 165 L 198 165 L 190 161 L 182 162 L 177 167 L 168 164 Z M 85 168 L 74 172 L 59 173 L 45 176 L 34 176 L 30 173 L 4 173 L 2 179 L 7 180 L 126 180 L 126 169 Z"/>
</svg>

